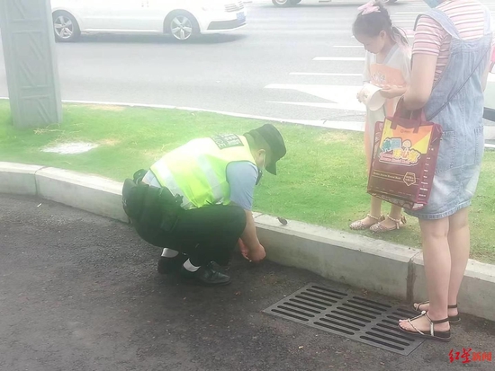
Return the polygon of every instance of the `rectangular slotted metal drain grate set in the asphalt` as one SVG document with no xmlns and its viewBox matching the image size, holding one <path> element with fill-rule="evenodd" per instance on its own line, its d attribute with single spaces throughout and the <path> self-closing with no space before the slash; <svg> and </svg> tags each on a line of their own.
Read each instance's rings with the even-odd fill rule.
<svg viewBox="0 0 495 371">
<path fill-rule="evenodd" d="M 397 326 L 399 319 L 416 316 L 416 312 L 317 284 L 303 287 L 263 312 L 403 356 L 424 341 L 401 332 Z"/>
</svg>

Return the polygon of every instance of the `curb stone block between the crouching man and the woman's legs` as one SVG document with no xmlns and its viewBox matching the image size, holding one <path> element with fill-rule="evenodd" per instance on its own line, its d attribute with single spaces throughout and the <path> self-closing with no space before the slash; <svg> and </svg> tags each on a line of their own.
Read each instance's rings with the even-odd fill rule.
<svg viewBox="0 0 495 371">
<path fill-rule="evenodd" d="M 410 261 L 419 251 L 317 225 L 257 216 L 266 257 L 383 295 L 408 297 Z"/>
</svg>

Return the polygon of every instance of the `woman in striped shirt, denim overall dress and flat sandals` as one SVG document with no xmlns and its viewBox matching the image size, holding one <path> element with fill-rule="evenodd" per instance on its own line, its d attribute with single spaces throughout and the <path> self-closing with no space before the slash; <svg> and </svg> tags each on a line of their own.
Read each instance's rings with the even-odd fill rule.
<svg viewBox="0 0 495 371">
<path fill-rule="evenodd" d="M 421 314 L 401 320 L 399 326 L 411 335 L 448 341 L 450 324 L 460 322 L 457 294 L 469 258 L 468 207 L 478 183 L 484 149 L 483 89 L 492 35 L 490 12 L 476 0 L 425 2 L 438 6 L 425 15 L 449 35 L 448 62 L 434 83 L 438 56 L 414 54 L 404 105 L 407 110 L 423 109 L 428 121 L 440 124 L 444 134 L 428 205 L 408 211 L 419 218 L 429 302 L 415 304 L 414 309 Z M 450 7 L 465 13 L 463 6 L 474 7 L 480 20 L 484 12 L 482 37 L 463 40 L 447 10 L 442 10 Z"/>
</svg>

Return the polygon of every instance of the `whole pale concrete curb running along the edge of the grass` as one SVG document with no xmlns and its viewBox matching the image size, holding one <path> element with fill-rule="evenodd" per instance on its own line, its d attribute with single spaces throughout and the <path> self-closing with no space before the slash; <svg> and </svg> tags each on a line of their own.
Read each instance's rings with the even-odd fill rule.
<svg viewBox="0 0 495 371">
<path fill-rule="evenodd" d="M 0 163 L 0 193 L 38 196 L 128 223 L 121 182 L 67 170 Z M 318 225 L 256 214 L 267 259 L 402 300 L 425 298 L 421 251 Z M 470 260 L 460 294 L 461 311 L 495 321 L 495 266 Z"/>
</svg>

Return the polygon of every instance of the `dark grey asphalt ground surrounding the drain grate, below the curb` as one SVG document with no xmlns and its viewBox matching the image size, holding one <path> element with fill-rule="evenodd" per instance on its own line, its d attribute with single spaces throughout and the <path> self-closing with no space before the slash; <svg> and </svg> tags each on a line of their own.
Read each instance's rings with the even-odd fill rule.
<svg viewBox="0 0 495 371">
<path fill-rule="evenodd" d="M 495 353 L 493 322 L 464 315 L 450 343 L 426 341 L 403 357 L 261 313 L 310 282 L 352 288 L 237 255 L 229 287 L 185 285 L 157 274 L 159 249 L 129 225 L 45 200 L 0 195 L 0 234 L 0 370 L 495 368 L 495 359 L 448 357 Z"/>
</svg>

